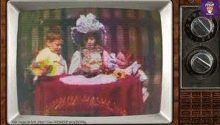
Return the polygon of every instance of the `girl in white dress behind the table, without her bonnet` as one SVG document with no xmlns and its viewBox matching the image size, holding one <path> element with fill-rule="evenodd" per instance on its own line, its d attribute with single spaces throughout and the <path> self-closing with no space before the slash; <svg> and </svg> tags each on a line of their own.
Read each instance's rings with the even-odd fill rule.
<svg viewBox="0 0 220 125">
<path fill-rule="evenodd" d="M 101 72 L 102 57 L 96 32 L 85 34 L 83 41 L 84 47 L 72 56 L 69 74 L 98 75 Z"/>
</svg>

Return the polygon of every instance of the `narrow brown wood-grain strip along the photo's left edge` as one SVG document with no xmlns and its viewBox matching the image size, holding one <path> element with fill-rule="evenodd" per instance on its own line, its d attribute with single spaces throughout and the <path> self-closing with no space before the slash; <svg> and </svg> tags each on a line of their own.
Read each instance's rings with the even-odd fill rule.
<svg viewBox="0 0 220 125">
<path fill-rule="evenodd" d="M 1 125 L 6 125 L 6 0 L 1 0 Z"/>
</svg>

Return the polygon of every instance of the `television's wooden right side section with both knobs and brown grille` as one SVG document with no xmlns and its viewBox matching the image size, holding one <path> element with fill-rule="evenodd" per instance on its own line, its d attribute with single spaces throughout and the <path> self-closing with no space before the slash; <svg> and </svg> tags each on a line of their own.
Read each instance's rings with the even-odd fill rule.
<svg viewBox="0 0 220 125">
<path fill-rule="evenodd" d="M 180 1 L 181 124 L 220 124 L 219 12 L 212 18 L 204 15 L 208 2 Z M 212 2 L 219 7 L 219 1 Z"/>
</svg>

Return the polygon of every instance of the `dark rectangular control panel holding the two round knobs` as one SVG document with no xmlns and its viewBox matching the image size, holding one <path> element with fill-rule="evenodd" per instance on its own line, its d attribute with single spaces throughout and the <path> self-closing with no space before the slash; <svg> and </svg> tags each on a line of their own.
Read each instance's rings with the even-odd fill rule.
<svg viewBox="0 0 220 125">
<path fill-rule="evenodd" d="M 199 7 L 180 7 L 181 88 L 206 89 L 219 83 L 219 19 L 207 18 Z"/>
</svg>

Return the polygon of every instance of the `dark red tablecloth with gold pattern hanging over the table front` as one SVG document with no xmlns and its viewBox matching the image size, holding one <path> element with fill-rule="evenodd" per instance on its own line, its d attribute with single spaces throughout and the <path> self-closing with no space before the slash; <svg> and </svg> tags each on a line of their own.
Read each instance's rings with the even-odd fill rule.
<svg viewBox="0 0 220 125">
<path fill-rule="evenodd" d="M 100 85 L 67 85 L 65 76 L 39 79 L 36 85 L 36 110 L 39 115 L 97 116 L 137 115 L 142 113 L 142 84 L 126 76 Z"/>
</svg>

